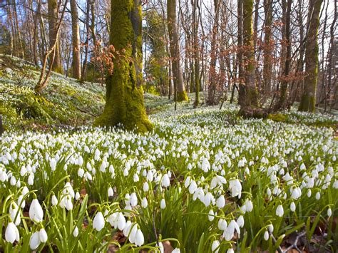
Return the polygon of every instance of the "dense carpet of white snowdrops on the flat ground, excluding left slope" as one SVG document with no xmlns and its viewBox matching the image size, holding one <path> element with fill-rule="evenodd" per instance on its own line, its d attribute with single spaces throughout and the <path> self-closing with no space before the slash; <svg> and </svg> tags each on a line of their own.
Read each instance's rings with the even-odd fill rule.
<svg viewBox="0 0 338 253">
<path fill-rule="evenodd" d="M 273 251 L 293 232 L 310 242 L 319 223 L 334 247 L 332 130 L 272 120 L 227 124 L 235 111 L 164 111 L 145 135 L 6 133 L 1 249 L 163 252 L 169 242 L 173 252 Z"/>
</svg>

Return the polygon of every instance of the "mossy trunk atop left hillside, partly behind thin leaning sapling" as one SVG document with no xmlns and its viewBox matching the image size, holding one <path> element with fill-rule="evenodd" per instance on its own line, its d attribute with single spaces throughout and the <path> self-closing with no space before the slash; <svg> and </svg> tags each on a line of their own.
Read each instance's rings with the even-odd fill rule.
<svg viewBox="0 0 338 253">
<path fill-rule="evenodd" d="M 57 21 L 58 21 L 58 3 L 56 0 L 48 0 L 48 24 L 49 24 L 49 44 L 55 46 L 54 56 L 51 55 L 49 62 L 52 62 L 52 66 L 49 66 L 52 71 L 58 73 L 63 73 L 61 57 L 60 57 L 60 43 L 58 41 L 58 31 L 57 31 Z M 52 61 L 53 60 L 53 61 Z"/>
</svg>

